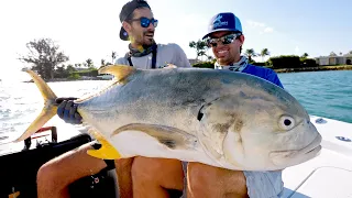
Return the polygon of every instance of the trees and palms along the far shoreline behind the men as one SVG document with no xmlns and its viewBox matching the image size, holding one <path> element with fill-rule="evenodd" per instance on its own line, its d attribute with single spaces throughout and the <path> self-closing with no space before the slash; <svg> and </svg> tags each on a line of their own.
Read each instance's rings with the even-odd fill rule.
<svg viewBox="0 0 352 198">
<path fill-rule="evenodd" d="M 53 78 L 72 78 L 78 79 L 80 76 L 97 76 L 98 67 L 94 65 L 91 58 L 87 58 L 82 63 L 65 64 L 69 62 L 69 56 L 65 55 L 59 46 L 55 44 L 52 38 L 33 40 L 25 44 L 28 48 L 26 55 L 20 55 L 19 59 L 30 65 L 30 68 L 36 70 L 43 79 L 50 80 Z M 209 50 L 205 41 L 191 41 L 189 47 L 195 48 L 196 59 L 206 56 L 206 62 L 198 62 L 194 64 L 194 67 L 208 67 L 213 68 L 215 58 L 207 55 Z M 282 55 L 270 57 L 266 62 L 264 58 L 271 56 L 268 48 L 263 48 L 261 53 L 256 53 L 254 48 L 246 48 L 242 52 L 249 57 L 249 62 L 253 65 L 270 66 L 273 68 L 290 68 L 300 66 L 317 66 L 317 63 L 312 58 L 308 58 L 308 54 L 304 53 L 301 56 L 296 55 Z M 352 54 L 352 51 L 349 52 Z M 340 53 L 342 55 L 342 53 Z M 256 63 L 253 57 L 262 57 L 262 62 Z M 337 56 L 331 52 L 330 56 Z M 111 65 L 117 58 L 117 53 L 111 52 L 111 62 L 101 58 L 100 66 Z"/>
</svg>

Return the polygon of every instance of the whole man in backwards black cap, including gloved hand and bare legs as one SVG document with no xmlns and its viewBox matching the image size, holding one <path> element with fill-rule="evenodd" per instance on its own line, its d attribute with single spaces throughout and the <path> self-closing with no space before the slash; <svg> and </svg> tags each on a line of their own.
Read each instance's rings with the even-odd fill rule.
<svg viewBox="0 0 352 198">
<path fill-rule="evenodd" d="M 130 52 L 118 58 L 117 64 L 143 69 L 163 68 L 169 64 L 177 67 L 191 67 L 186 54 L 177 44 L 155 43 L 154 31 L 157 20 L 154 19 L 146 1 L 133 0 L 125 3 L 120 13 L 120 21 L 122 22 L 120 38 L 130 41 Z M 57 109 L 58 117 L 68 123 L 81 123 L 81 117 L 76 112 L 76 106 L 73 102 L 75 98 L 61 98 L 59 100 L 62 102 Z M 128 158 L 114 162 L 99 160 L 87 154 L 88 150 L 99 147 L 100 144 L 94 141 L 45 163 L 37 173 L 38 198 L 68 197 L 69 184 L 81 177 L 97 174 L 103 168 L 112 169 L 116 166 L 120 197 L 132 197 L 131 172 L 134 174 L 133 187 L 138 189 L 133 191 L 139 194 L 142 190 L 140 194 L 142 197 L 145 196 L 143 193 L 145 188 L 151 197 L 167 195 L 165 189 L 182 190 L 183 168 L 178 161 L 135 157 L 134 161 Z M 160 168 L 155 172 L 157 167 Z M 166 175 L 168 177 L 162 177 Z"/>
</svg>

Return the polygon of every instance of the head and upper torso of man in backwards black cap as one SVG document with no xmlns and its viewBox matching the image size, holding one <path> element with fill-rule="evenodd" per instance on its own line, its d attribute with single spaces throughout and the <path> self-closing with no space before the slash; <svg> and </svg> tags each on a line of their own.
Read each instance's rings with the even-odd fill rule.
<svg viewBox="0 0 352 198">
<path fill-rule="evenodd" d="M 120 13 L 122 23 L 120 38 L 130 41 L 130 52 L 118 58 L 117 64 L 138 68 L 162 68 L 168 64 L 190 67 L 184 51 L 174 43 L 156 44 L 154 31 L 158 21 L 153 18 L 146 1 L 133 0 L 123 6 Z"/>
</svg>

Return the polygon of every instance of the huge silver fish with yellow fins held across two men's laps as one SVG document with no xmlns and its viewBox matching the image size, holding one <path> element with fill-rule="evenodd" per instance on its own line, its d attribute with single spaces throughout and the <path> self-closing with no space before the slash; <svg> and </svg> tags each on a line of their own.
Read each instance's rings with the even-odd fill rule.
<svg viewBox="0 0 352 198">
<path fill-rule="evenodd" d="M 34 72 L 45 107 L 16 141 L 56 114 L 56 96 Z M 177 158 L 239 170 L 274 170 L 319 155 L 321 135 L 280 87 L 243 73 L 201 68 L 103 67 L 113 84 L 78 99 L 77 111 L 102 143 L 99 158 Z"/>
</svg>

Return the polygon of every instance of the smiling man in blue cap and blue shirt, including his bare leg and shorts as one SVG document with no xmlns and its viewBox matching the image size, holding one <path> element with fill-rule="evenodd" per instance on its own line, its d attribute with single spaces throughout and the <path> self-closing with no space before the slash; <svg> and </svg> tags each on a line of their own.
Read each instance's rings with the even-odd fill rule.
<svg viewBox="0 0 352 198">
<path fill-rule="evenodd" d="M 241 55 L 244 35 L 233 13 L 224 12 L 210 20 L 208 33 L 202 37 L 217 58 L 216 69 L 246 73 L 283 87 L 277 74 L 268 68 L 249 64 Z M 237 172 L 188 163 L 188 195 L 194 197 L 279 197 L 283 191 L 282 170 Z"/>
</svg>

